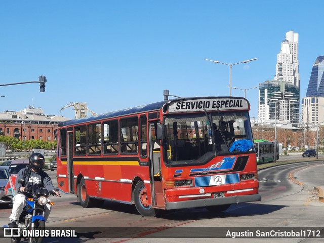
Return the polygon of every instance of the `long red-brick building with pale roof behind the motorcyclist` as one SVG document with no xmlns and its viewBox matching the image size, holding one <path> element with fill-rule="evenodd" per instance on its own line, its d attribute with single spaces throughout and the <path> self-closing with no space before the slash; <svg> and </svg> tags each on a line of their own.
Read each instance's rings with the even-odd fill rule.
<svg viewBox="0 0 324 243">
<path fill-rule="evenodd" d="M 40 108 L 0 112 L 0 136 L 7 135 L 20 140 L 56 140 L 58 123 L 68 120 L 62 116 L 45 115 Z"/>
</svg>

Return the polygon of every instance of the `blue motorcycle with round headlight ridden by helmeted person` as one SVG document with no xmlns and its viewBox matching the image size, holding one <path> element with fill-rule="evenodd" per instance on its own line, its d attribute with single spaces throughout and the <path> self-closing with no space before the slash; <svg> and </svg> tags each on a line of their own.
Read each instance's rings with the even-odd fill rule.
<svg viewBox="0 0 324 243">
<path fill-rule="evenodd" d="M 18 182 L 24 184 L 23 179 L 18 179 Z M 12 235 L 15 236 L 11 237 L 11 242 L 18 243 L 21 238 L 25 238 L 29 243 L 41 243 L 43 237 L 46 236 L 45 207 L 47 204 L 54 205 L 47 198 L 49 195 L 55 195 L 55 192 L 37 186 L 26 187 L 25 191 L 31 192 L 32 198 L 26 200 L 26 206 L 19 217 L 17 229 L 13 230 Z"/>
</svg>

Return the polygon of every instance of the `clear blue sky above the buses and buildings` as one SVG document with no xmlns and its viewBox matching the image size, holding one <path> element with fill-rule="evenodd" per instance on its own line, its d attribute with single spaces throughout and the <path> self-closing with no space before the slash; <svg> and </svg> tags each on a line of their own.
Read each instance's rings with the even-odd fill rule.
<svg viewBox="0 0 324 243">
<path fill-rule="evenodd" d="M 286 32 L 299 34 L 300 96 L 324 55 L 324 1 L 1 1 L 0 111 L 33 105 L 74 117 L 70 102 L 96 113 L 181 97 L 229 95 L 275 75 Z M 232 90 L 232 96 L 244 91 Z M 258 89 L 247 91 L 258 115 Z"/>
</svg>

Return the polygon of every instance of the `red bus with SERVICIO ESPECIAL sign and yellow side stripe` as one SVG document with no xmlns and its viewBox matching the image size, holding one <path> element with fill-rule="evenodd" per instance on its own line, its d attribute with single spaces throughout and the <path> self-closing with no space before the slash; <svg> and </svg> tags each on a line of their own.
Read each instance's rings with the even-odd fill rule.
<svg viewBox="0 0 324 243">
<path fill-rule="evenodd" d="M 143 216 L 259 201 L 249 110 L 241 97 L 194 97 L 63 121 L 58 186 L 84 208 L 110 200 Z"/>
</svg>

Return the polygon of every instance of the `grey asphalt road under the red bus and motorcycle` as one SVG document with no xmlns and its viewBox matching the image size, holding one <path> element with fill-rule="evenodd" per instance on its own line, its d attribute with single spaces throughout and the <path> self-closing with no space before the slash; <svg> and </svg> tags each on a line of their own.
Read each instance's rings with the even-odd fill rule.
<svg viewBox="0 0 324 243">
<path fill-rule="evenodd" d="M 307 158 L 308 159 L 308 158 Z M 280 161 L 278 161 L 279 163 Z M 299 168 L 304 168 L 298 171 Z M 294 179 L 288 178 L 297 171 Z M 209 238 L 215 230 L 240 230 L 250 227 L 310 227 L 324 228 L 322 209 L 313 190 L 313 184 L 322 183 L 322 161 L 317 165 L 308 159 L 305 163 L 275 166 L 259 171 L 262 200 L 255 203 L 232 205 L 219 214 L 206 209 L 186 209 L 162 212 L 154 218 L 141 217 L 130 205 L 106 202 L 101 208 L 84 209 L 76 203 L 74 195 L 52 197 L 55 202 L 48 227 L 95 227 L 82 238 L 70 238 L 66 242 L 322 242 L 323 238 Z M 50 172 L 55 176 L 55 172 Z M 55 179 L 53 179 L 55 183 Z M 0 222 L 7 223 L 10 209 L 0 211 Z M 100 228 L 111 227 L 111 228 Z M 166 228 L 167 227 L 167 228 Z M 314 228 L 315 229 L 315 228 Z M 109 232 L 109 236 L 100 235 Z M 210 232 L 212 231 L 212 232 Z M 322 232 L 324 234 L 324 232 Z M 139 238 L 146 235 L 145 238 Z M 104 236 L 104 235 L 103 235 Z M 196 238 L 199 236 L 199 238 Z M 179 238 L 180 237 L 180 238 Z M 47 238 L 43 242 L 63 242 L 62 238 Z M 0 242 L 4 239 L 0 239 Z"/>
</svg>

